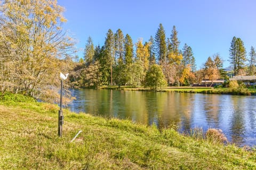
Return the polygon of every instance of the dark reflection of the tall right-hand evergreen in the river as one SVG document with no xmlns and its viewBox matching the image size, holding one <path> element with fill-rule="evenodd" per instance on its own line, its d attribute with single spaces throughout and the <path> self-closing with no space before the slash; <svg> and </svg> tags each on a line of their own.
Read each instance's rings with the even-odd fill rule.
<svg viewBox="0 0 256 170">
<path fill-rule="evenodd" d="M 245 132 L 245 121 L 244 121 L 244 113 L 245 110 L 243 99 L 241 97 L 232 97 L 231 102 L 233 105 L 233 116 L 231 117 L 231 142 L 235 143 L 243 143 L 244 132 Z M 231 107 L 230 106 L 230 107 Z"/>
</svg>

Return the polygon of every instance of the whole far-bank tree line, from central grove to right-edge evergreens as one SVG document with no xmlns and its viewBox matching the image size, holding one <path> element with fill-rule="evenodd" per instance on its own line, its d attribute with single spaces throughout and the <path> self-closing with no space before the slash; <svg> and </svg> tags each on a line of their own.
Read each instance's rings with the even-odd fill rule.
<svg viewBox="0 0 256 170">
<path fill-rule="evenodd" d="M 254 75 L 256 72 L 255 50 L 251 47 L 249 58 L 246 58 L 241 38 L 234 37 L 231 41 L 229 62 L 232 71 L 228 73 L 223 69 L 219 54 L 208 57 L 197 70 L 192 48 L 185 44 L 180 50 L 179 46 L 175 25 L 168 38 L 160 23 L 155 37 L 150 36 L 145 43 L 140 38 L 135 44 L 121 29 L 115 33 L 109 29 L 103 46 L 94 46 L 92 38 L 87 39 L 84 57 L 75 64 L 70 81 L 74 86 L 115 84 L 157 88 L 189 86 L 202 80 L 211 80 L 213 84 L 214 80 L 228 79 L 228 75 Z"/>
</svg>

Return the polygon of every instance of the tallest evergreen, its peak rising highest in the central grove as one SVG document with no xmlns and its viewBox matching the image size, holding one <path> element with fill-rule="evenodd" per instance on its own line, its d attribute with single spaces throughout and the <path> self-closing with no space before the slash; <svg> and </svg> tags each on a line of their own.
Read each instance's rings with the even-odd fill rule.
<svg viewBox="0 0 256 170">
<path fill-rule="evenodd" d="M 165 40 L 165 30 L 162 23 L 159 24 L 155 36 L 155 51 L 158 58 L 158 63 L 161 65 L 162 62 L 166 61 L 166 40 Z"/>
</svg>

